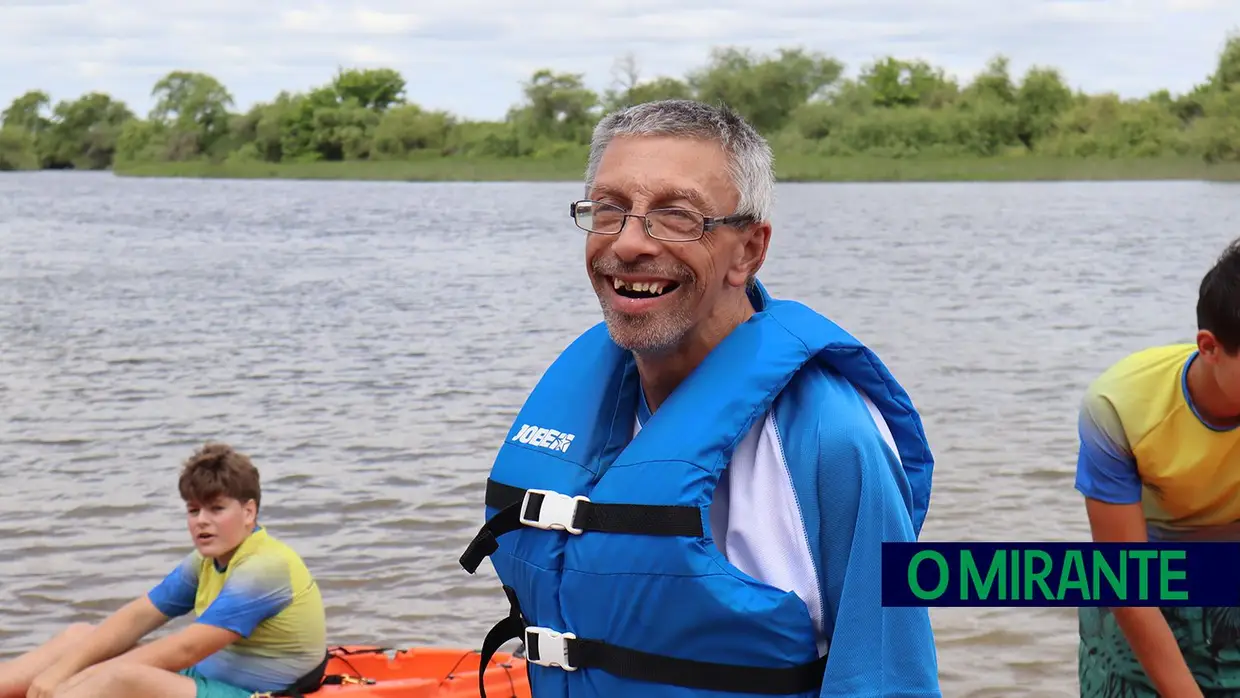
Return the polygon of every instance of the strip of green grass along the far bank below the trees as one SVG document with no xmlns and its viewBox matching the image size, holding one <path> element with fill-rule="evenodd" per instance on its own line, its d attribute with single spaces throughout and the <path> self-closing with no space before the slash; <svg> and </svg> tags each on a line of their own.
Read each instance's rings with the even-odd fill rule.
<svg viewBox="0 0 1240 698">
<path fill-rule="evenodd" d="M 379 160 L 345 162 L 143 162 L 118 164 L 120 176 L 373 181 L 580 181 L 584 159 Z M 776 157 L 781 181 L 1240 181 L 1240 162 L 1208 165 L 1199 157 Z"/>
</svg>

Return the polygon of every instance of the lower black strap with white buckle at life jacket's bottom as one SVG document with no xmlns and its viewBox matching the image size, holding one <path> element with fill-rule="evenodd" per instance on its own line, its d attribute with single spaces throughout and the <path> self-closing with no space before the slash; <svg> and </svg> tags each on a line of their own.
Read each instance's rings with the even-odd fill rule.
<svg viewBox="0 0 1240 698">
<path fill-rule="evenodd" d="M 587 640 L 572 634 L 558 634 L 546 627 L 531 627 L 521 612 L 516 591 L 505 585 L 511 611 L 495 624 L 482 641 L 481 663 L 477 671 L 477 691 L 486 698 L 482 674 L 491 657 L 508 640 L 522 640 L 526 661 L 532 665 L 560 667 L 564 671 L 596 668 L 610 674 L 703 691 L 729 693 L 759 693 L 763 696 L 789 696 L 818 691 L 822 673 L 827 668 L 827 656 L 792 667 L 749 667 L 682 660 L 652 655 Z"/>
</svg>

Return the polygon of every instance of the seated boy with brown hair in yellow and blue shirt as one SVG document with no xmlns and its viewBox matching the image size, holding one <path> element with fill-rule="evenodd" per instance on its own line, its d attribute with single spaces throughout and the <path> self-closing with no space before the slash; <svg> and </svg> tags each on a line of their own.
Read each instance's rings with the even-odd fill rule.
<svg viewBox="0 0 1240 698">
<path fill-rule="evenodd" d="M 71 626 L 0 663 L 0 698 L 249 698 L 321 672 L 319 586 L 258 524 L 258 470 L 207 444 L 185 462 L 180 490 L 195 550 L 98 627 Z M 196 622 L 136 646 L 191 610 Z"/>
</svg>

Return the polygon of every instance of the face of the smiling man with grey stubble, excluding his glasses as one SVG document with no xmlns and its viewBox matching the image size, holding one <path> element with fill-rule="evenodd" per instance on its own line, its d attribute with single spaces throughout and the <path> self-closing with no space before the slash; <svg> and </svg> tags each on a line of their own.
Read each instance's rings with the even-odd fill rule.
<svg viewBox="0 0 1240 698">
<path fill-rule="evenodd" d="M 733 213 L 738 193 L 717 143 L 622 136 L 604 151 L 588 198 L 631 213 L 687 208 L 711 217 Z M 678 347 L 760 264 L 765 238 L 758 249 L 746 244 L 750 233 L 719 227 L 697 241 L 665 242 L 630 218 L 620 234 L 588 234 L 585 267 L 613 341 L 642 353 Z M 650 284 L 661 293 L 652 295 Z"/>
</svg>

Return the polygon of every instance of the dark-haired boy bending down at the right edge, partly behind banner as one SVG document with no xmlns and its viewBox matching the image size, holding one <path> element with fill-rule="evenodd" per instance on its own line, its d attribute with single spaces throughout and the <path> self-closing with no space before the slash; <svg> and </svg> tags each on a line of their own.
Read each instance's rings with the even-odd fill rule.
<svg viewBox="0 0 1240 698">
<path fill-rule="evenodd" d="M 1240 241 L 1202 279 L 1197 342 L 1087 389 L 1076 488 L 1095 541 L 1240 539 Z M 1240 609 L 1083 607 L 1080 694 L 1240 694 Z"/>
</svg>

